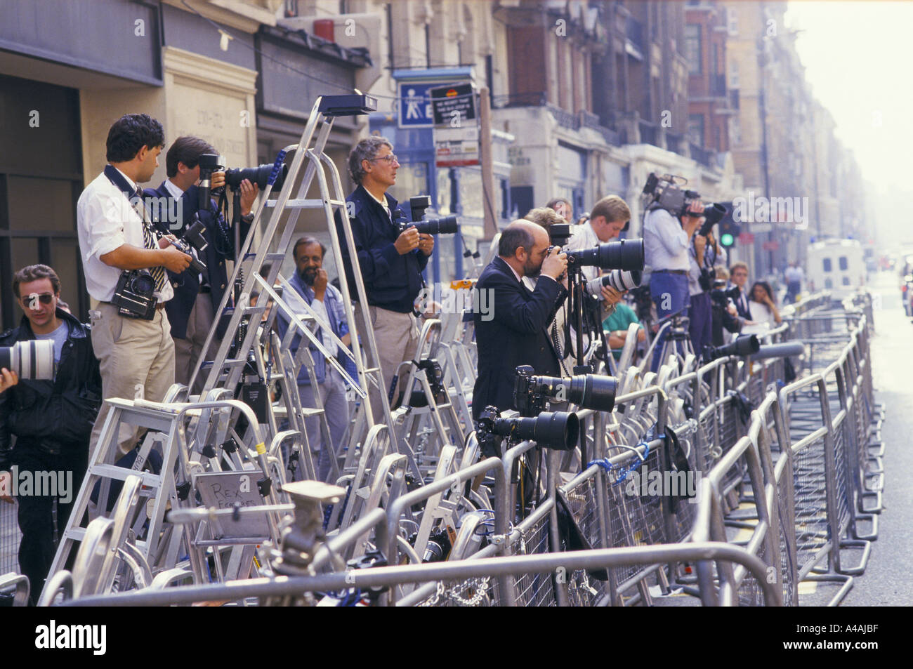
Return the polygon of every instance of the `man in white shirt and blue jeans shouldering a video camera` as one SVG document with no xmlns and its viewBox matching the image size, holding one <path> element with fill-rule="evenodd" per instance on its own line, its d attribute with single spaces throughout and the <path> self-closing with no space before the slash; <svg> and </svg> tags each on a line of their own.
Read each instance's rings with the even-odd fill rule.
<svg viewBox="0 0 913 669">
<path fill-rule="evenodd" d="M 658 204 L 651 205 L 644 219 L 644 255 L 652 267 L 650 298 L 656 305 L 656 318 L 675 313 L 687 316 L 689 303 L 687 273 L 691 267 L 688 248 L 698 229 L 703 204 L 694 200 L 687 211 L 676 218 Z M 666 332 L 656 341 L 651 371 L 659 369 Z M 684 351 L 680 351 L 684 352 Z"/>
</svg>

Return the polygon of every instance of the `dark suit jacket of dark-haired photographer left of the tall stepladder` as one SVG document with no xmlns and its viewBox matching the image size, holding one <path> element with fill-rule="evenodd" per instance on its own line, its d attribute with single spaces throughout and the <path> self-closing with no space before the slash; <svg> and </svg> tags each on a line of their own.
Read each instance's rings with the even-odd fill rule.
<svg viewBox="0 0 913 669">
<path fill-rule="evenodd" d="M 145 189 L 143 194 L 147 198 L 165 197 L 169 201 L 173 199 L 171 193 L 165 188 L 164 182 L 158 188 Z M 201 254 L 200 259 L 203 260 L 208 269 L 209 276 L 207 278 L 211 287 L 209 297 L 212 301 L 213 315 L 215 317 L 215 311 L 219 308 L 228 284 L 226 260 L 234 259 L 235 249 L 234 236 L 222 221 L 222 217 L 215 213 L 217 211 L 215 202 L 210 201 L 210 203 L 212 205 L 210 211 L 200 213 L 200 220 L 206 226 L 204 236 L 209 243 L 209 246 L 206 246 Z M 166 217 L 169 211 L 168 208 L 147 208 L 152 215 L 152 223 L 159 230 L 163 233 L 171 233 L 180 237 L 184 234 L 184 229 L 191 225 L 194 220 L 194 214 L 199 209 L 199 190 L 197 187 L 191 186 L 188 188 L 178 204 L 181 206 L 181 209 L 176 210 L 181 212 L 180 221 L 182 226 L 180 229 L 172 229 L 169 225 Z M 172 208 L 172 211 L 175 210 Z M 216 225 L 221 225 L 226 231 L 225 234 L 219 232 L 215 227 Z M 181 274 L 174 274 L 169 271 L 168 280 L 171 281 L 174 288 L 174 297 L 165 303 L 165 312 L 168 314 L 168 322 L 171 323 L 172 337 L 183 340 L 187 337 L 187 319 L 190 317 L 191 309 L 194 308 L 196 295 L 200 292 L 200 281 L 196 272 L 190 267 Z M 219 327 L 216 330 L 216 335 L 219 339 L 225 335 L 227 324 L 228 319 L 221 319 L 219 322 Z"/>
</svg>

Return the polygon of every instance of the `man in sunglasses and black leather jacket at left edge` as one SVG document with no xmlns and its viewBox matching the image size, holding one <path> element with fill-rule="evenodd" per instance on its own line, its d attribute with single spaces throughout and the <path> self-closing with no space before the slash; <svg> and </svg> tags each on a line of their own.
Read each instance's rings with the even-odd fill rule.
<svg viewBox="0 0 913 669">
<path fill-rule="evenodd" d="M 32 489 L 18 496 L 22 530 L 19 566 L 31 584 L 32 603 L 41 592 L 54 560 L 54 500 L 59 531 L 67 527 L 72 504 L 89 462 L 89 434 L 101 403 L 99 361 L 92 353 L 89 328 L 59 308 L 60 279 L 46 265 L 23 267 L 13 277 L 16 303 L 25 312 L 19 327 L 0 335 L 0 346 L 17 341 L 51 340 L 57 375 L 53 381 L 22 379 L 0 395 L 0 476 L 15 467 L 15 476 L 65 473 L 64 486 L 54 495 Z M 4 370 L 5 383 L 16 375 Z M 11 448 L 16 437 L 16 447 Z M 41 474 L 41 477 L 46 477 Z M 55 476 L 55 480 L 60 480 Z M 0 484 L 0 499 L 12 502 Z"/>
</svg>

